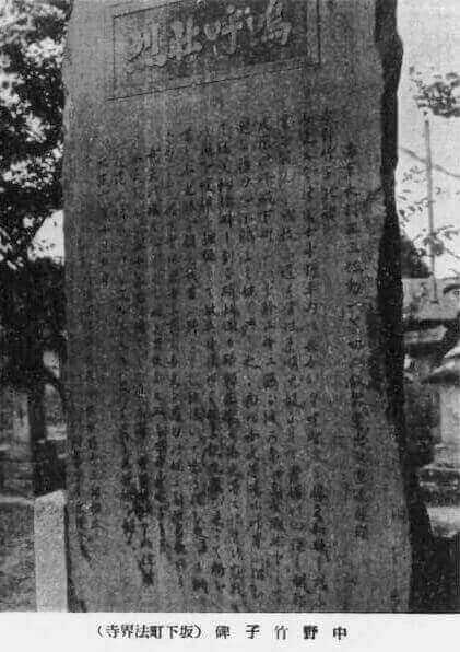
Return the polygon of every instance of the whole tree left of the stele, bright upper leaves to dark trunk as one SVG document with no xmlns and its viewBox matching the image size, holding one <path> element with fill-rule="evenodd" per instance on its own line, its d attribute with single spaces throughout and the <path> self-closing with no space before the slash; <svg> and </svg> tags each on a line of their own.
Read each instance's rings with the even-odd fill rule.
<svg viewBox="0 0 460 652">
<path fill-rule="evenodd" d="M 37 259 L 34 237 L 61 208 L 61 61 L 68 0 L 11 0 L 0 13 L 1 381 L 30 398 L 32 436 L 44 436 L 43 353 L 64 345 L 62 265 Z"/>
</svg>

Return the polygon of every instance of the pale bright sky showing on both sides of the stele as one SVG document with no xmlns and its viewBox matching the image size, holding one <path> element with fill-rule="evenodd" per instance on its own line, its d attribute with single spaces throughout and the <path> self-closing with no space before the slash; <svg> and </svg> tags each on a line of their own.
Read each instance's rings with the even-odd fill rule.
<svg viewBox="0 0 460 652">
<path fill-rule="evenodd" d="M 409 68 L 414 66 L 424 75 L 450 71 L 460 73 L 460 0 L 399 0 L 398 31 L 403 42 L 404 57 L 399 88 L 399 144 L 400 162 L 397 170 L 397 195 L 421 199 L 426 195 L 426 177 L 420 183 L 404 182 L 404 174 L 417 163 L 404 150 L 425 158 L 424 123 L 422 112 L 413 100 Z M 433 162 L 460 176 L 460 118 L 430 118 Z M 403 148 L 403 149 L 401 149 Z M 436 194 L 435 226 L 452 224 L 460 228 L 460 178 L 434 171 Z M 409 190 L 409 195 L 408 195 Z M 403 202 L 399 206 L 403 208 Z M 55 213 L 38 233 L 37 238 L 54 245 L 52 252 L 63 256 L 62 212 Z M 415 243 L 426 233 L 427 214 L 423 211 L 405 225 Z M 425 231 L 424 231 L 425 230 Z M 460 235 L 448 242 L 449 248 L 460 257 Z M 436 260 L 439 278 L 460 272 L 460 259 L 444 255 Z"/>
</svg>

